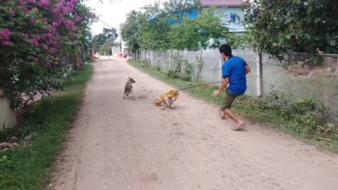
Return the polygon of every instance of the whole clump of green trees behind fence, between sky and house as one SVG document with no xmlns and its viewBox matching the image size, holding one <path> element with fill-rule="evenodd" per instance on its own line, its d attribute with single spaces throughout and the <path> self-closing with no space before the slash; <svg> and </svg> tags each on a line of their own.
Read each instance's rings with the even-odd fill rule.
<svg viewBox="0 0 338 190">
<path fill-rule="evenodd" d="M 199 10 L 200 16 L 189 19 L 184 16 L 184 22 L 171 25 L 168 20 L 180 20 L 180 14 L 175 11 Z M 145 12 L 131 11 L 127 21 L 120 26 L 123 41 L 130 50 L 151 49 L 199 49 L 219 46 L 221 40 L 227 39 L 229 29 L 223 26 L 221 19 L 213 15 L 213 8 L 202 11 L 199 1 L 170 0 L 160 4 L 156 1 L 144 7 Z M 147 21 L 148 18 L 154 20 Z"/>
</svg>

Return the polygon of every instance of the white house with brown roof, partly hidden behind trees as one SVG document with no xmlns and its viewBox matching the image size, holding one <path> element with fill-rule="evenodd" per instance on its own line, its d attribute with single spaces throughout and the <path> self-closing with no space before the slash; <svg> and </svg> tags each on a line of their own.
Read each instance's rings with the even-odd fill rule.
<svg viewBox="0 0 338 190">
<path fill-rule="evenodd" d="M 215 6 L 214 14 L 221 14 L 223 24 L 230 28 L 230 32 L 237 34 L 246 32 L 240 20 L 244 17 L 244 11 L 241 8 L 243 3 L 243 0 L 201 0 L 203 8 Z"/>
</svg>

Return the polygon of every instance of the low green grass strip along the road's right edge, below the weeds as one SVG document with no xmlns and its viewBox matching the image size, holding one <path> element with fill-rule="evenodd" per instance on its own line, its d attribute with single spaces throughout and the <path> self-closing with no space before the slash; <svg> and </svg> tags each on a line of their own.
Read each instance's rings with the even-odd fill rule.
<svg viewBox="0 0 338 190">
<path fill-rule="evenodd" d="M 139 64 L 137 61 L 130 59 L 130 65 L 134 66 L 147 74 L 156 77 L 158 80 L 172 84 L 174 87 L 183 88 L 195 85 L 200 82 L 182 82 L 167 77 L 164 72 L 157 68 L 151 68 L 144 64 Z M 218 89 L 214 86 L 202 86 L 192 89 L 187 89 L 190 94 L 205 101 L 209 101 L 219 106 L 223 96 L 216 98 L 212 96 L 213 91 Z M 306 115 L 282 115 L 280 109 L 266 108 L 258 99 L 249 96 L 240 96 L 237 101 L 234 101 L 233 110 L 242 118 L 246 118 L 253 122 L 264 124 L 265 127 L 277 129 L 287 134 L 292 134 L 294 137 L 306 141 L 308 144 L 313 144 L 322 148 L 325 151 L 338 153 L 338 129 L 335 132 L 319 133 L 317 130 L 320 127 L 325 127 L 325 124 L 315 122 Z"/>
</svg>

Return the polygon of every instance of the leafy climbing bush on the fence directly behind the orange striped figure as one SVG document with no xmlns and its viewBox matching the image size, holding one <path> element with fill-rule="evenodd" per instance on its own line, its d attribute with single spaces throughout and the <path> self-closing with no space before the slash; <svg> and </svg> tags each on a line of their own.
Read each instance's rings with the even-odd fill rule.
<svg viewBox="0 0 338 190">
<path fill-rule="evenodd" d="M 187 59 L 180 56 L 178 53 L 173 54 L 171 57 L 172 63 L 168 70 L 165 70 L 165 73 L 168 77 L 182 80 L 182 81 L 191 81 L 192 80 L 192 63 L 189 63 Z"/>
</svg>

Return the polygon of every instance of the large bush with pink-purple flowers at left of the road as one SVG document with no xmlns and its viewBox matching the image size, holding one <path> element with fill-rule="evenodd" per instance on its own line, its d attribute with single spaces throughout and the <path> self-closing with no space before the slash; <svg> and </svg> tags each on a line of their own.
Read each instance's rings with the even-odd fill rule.
<svg viewBox="0 0 338 190">
<path fill-rule="evenodd" d="M 63 53 L 87 49 L 94 21 L 79 0 L 0 0 L 0 89 L 13 108 L 61 88 Z"/>
</svg>

